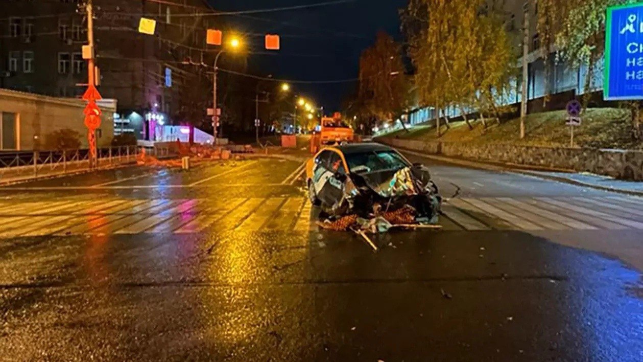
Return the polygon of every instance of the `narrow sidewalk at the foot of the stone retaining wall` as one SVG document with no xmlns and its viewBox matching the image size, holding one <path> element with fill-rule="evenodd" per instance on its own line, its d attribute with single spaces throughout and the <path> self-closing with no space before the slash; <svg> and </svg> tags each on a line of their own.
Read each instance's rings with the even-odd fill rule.
<svg viewBox="0 0 643 362">
<path fill-rule="evenodd" d="M 438 155 L 430 155 L 416 151 L 408 151 L 401 149 L 403 153 L 411 155 L 430 158 L 440 162 L 448 162 L 460 166 L 475 167 L 478 169 L 488 169 L 491 171 L 501 172 L 514 172 L 523 175 L 535 176 L 538 178 L 546 178 L 548 180 L 555 180 L 565 182 L 566 184 L 574 184 L 578 186 L 592 187 L 593 189 L 601 189 L 606 191 L 613 191 L 616 193 L 623 193 L 627 195 L 643 196 L 643 182 L 623 181 L 617 180 L 610 176 L 593 175 L 592 173 L 575 173 L 574 171 L 561 171 L 556 169 L 543 169 L 543 167 L 530 167 L 516 164 L 502 164 L 499 162 L 484 162 L 478 160 L 465 160 L 462 158 L 444 157 Z"/>
</svg>

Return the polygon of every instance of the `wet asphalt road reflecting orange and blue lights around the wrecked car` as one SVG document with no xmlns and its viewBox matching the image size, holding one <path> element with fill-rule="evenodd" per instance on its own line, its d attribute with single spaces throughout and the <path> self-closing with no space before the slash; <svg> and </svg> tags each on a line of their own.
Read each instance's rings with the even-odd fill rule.
<svg viewBox="0 0 643 362">
<path fill-rule="evenodd" d="M 377 252 L 298 162 L 0 189 L 0 360 L 643 360 L 642 199 L 430 166 L 444 230 Z"/>
</svg>

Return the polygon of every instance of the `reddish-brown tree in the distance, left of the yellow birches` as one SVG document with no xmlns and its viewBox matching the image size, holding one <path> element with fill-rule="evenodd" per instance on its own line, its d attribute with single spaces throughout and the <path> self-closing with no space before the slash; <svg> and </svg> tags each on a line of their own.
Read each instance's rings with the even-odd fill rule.
<svg viewBox="0 0 643 362">
<path fill-rule="evenodd" d="M 360 113 L 376 119 L 394 119 L 408 104 L 408 82 L 401 45 L 385 32 L 359 57 L 359 86 L 355 104 Z M 404 124 L 403 124 L 404 126 Z"/>
</svg>

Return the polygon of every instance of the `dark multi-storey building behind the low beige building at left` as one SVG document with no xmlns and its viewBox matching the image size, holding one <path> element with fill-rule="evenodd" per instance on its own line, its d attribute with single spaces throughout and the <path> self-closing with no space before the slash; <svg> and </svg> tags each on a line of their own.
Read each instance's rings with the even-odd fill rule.
<svg viewBox="0 0 643 362">
<path fill-rule="evenodd" d="M 0 8 L 0 88 L 80 97 L 87 82 L 81 53 L 87 44 L 85 1 L 0 0 Z M 161 114 L 174 122 L 182 107 L 181 89 L 194 73 L 194 66 L 181 61 L 201 61 L 198 49 L 206 46 L 206 28 L 217 26 L 202 14 L 212 8 L 204 0 L 94 0 L 93 8 L 98 90 L 117 100 L 115 122 L 128 121 L 115 128 L 144 135 L 145 125 L 133 122 Z M 154 35 L 138 32 L 141 15 L 157 21 Z M 129 122 L 132 113 L 136 117 Z"/>
</svg>

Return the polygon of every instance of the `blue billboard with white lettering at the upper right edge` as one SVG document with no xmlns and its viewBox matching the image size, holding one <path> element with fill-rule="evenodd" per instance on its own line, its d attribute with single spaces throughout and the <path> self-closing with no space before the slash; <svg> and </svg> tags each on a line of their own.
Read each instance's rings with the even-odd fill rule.
<svg viewBox="0 0 643 362">
<path fill-rule="evenodd" d="M 643 99 L 643 3 L 608 8 L 605 32 L 603 98 Z"/>
</svg>

